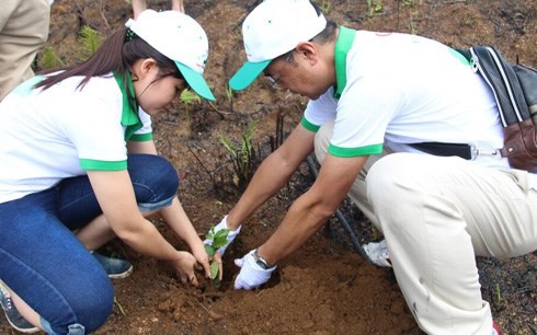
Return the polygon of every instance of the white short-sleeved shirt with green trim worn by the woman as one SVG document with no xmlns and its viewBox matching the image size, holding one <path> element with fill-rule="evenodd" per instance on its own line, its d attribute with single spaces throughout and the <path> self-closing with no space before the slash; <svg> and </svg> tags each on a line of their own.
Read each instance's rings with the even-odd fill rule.
<svg viewBox="0 0 537 335">
<path fill-rule="evenodd" d="M 126 141 L 152 139 L 149 115 L 137 106 L 134 112 L 112 73 L 82 90 L 82 77 L 32 90 L 42 79 L 22 83 L 0 103 L 0 204 L 87 170 L 125 170 Z"/>
</svg>

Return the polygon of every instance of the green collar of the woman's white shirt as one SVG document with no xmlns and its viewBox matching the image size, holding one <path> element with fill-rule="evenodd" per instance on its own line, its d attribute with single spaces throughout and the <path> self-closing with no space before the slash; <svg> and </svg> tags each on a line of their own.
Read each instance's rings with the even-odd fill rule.
<svg viewBox="0 0 537 335">
<path fill-rule="evenodd" d="M 140 117 L 138 116 L 138 103 L 133 101 L 133 99 L 130 97 L 135 96 L 130 73 L 127 72 L 126 85 L 125 77 L 123 76 L 123 73 L 114 72 L 114 78 L 123 95 L 122 125 L 126 127 L 125 140 L 127 141 L 136 132 L 136 130 L 142 127 L 142 123 L 140 120 Z M 125 89 L 128 90 L 128 93 Z"/>
</svg>

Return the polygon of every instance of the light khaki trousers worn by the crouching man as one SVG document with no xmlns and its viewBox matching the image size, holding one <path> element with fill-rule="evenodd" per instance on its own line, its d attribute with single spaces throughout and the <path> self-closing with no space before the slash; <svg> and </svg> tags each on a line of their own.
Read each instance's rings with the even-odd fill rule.
<svg viewBox="0 0 537 335">
<path fill-rule="evenodd" d="M 333 124 L 321 127 L 316 154 Z M 429 334 L 491 334 L 476 255 L 512 257 L 537 249 L 537 192 L 527 173 L 459 158 L 372 157 L 350 197 L 384 233 L 398 284 Z"/>
</svg>

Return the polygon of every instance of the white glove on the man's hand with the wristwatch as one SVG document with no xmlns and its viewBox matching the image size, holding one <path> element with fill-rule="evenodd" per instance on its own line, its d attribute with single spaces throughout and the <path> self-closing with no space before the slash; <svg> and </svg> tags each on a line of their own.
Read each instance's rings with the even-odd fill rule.
<svg viewBox="0 0 537 335">
<path fill-rule="evenodd" d="M 252 250 L 244 257 L 235 259 L 235 265 L 241 268 L 239 276 L 235 279 L 236 290 L 252 290 L 260 287 L 271 279 L 272 273 L 276 269 L 276 266 L 267 269 L 261 268 L 253 259 L 254 252 L 255 250 Z"/>
</svg>

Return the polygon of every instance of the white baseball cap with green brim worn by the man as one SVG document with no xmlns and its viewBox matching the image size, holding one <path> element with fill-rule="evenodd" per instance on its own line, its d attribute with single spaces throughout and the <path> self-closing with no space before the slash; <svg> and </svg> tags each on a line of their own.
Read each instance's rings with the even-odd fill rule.
<svg viewBox="0 0 537 335">
<path fill-rule="evenodd" d="M 248 88 L 276 57 L 317 36 L 327 19 L 309 0 L 265 0 L 242 23 L 248 61 L 229 80 L 236 91 Z"/>
</svg>

